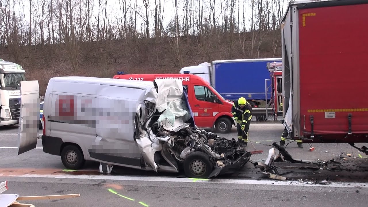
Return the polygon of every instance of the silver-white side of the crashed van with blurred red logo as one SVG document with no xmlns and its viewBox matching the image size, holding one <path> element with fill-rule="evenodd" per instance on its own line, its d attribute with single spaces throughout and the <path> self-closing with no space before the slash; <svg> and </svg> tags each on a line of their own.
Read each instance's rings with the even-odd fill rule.
<svg viewBox="0 0 368 207">
<path fill-rule="evenodd" d="M 44 151 L 60 155 L 61 144 L 75 143 L 86 160 L 140 168 L 133 120 L 144 94 L 136 88 L 55 81 Z"/>
</svg>

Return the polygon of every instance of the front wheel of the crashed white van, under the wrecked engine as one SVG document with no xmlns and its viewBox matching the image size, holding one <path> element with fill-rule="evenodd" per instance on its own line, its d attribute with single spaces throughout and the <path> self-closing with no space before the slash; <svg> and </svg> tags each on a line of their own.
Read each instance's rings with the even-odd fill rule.
<svg viewBox="0 0 368 207">
<path fill-rule="evenodd" d="M 213 164 L 204 152 L 192 152 L 184 160 L 184 172 L 188 178 L 208 178 Z"/>
</svg>

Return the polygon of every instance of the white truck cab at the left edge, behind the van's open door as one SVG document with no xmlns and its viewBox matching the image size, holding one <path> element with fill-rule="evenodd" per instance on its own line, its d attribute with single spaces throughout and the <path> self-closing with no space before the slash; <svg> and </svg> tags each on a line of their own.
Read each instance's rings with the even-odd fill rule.
<svg viewBox="0 0 368 207">
<path fill-rule="evenodd" d="M 25 70 L 22 66 L 0 59 L 0 126 L 19 122 L 21 81 L 25 81 Z"/>
</svg>

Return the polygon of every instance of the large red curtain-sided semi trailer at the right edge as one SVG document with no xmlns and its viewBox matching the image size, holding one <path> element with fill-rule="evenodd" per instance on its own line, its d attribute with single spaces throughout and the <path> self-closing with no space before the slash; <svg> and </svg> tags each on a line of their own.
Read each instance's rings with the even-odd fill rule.
<svg viewBox="0 0 368 207">
<path fill-rule="evenodd" d="M 294 139 L 368 142 L 367 11 L 367 0 L 289 3 L 281 25 L 283 124 Z"/>
</svg>

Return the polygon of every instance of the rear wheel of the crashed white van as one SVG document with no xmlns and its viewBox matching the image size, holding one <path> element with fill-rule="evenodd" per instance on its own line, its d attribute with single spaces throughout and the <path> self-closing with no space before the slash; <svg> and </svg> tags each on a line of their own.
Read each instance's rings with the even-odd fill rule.
<svg viewBox="0 0 368 207">
<path fill-rule="evenodd" d="M 80 169 L 85 162 L 83 153 L 75 145 L 66 145 L 61 151 L 61 162 L 67 169 Z"/>
</svg>

